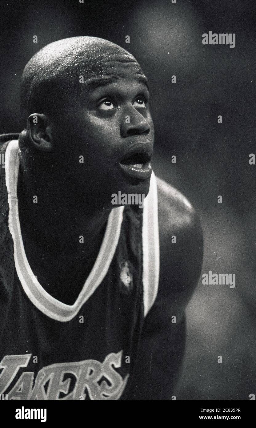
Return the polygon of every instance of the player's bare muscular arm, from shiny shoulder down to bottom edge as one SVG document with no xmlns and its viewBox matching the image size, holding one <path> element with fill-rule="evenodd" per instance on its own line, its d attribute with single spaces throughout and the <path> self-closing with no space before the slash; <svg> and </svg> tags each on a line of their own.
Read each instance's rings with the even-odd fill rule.
<svg viewBox="0 0 256 428">
<path fill-rule="evenodd" d="M 158 181 L 160 278 L 156 301 L 145 318 L 129 399 L 169 400 L 185 347 L 185 307 L 203 259 L 199 219 L 177 190 Z M 176 243 L 172 243 L 172 236 Z M 176 317 L 176 323 L 173 316 Z"/>
</svg>

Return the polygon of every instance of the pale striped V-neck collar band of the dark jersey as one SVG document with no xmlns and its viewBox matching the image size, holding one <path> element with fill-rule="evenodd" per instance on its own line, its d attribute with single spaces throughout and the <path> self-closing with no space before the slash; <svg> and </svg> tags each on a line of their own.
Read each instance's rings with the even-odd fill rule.
<svg viewBox="0 0 256 428">
<path fill-rule="evenodd" d="M 21 226 L 18 212 L 17 184 L 19 172 L 18 140 L 12 140 L 7 146 L 5 155 L 6 187 L 8 191 L 9 203 L 9 230 L 14 242 L 15 268 L 21 285 L 29 297 L 29 300 L 44 315 L 57 321 L 70 321 L 77 315 L 79 309 L 94 293 L 96 288 L 103 281 L 112 262 L 118 244 L 121 223 L 123 220 L 124 206 L 113 208 L 109 214 L 105 235 L 94 263 L 91 273 L 86 279 L 82 290 L 73 305 L 67 305 L 51 296 L 39 284 L 33 274 L 26 253 L 24 251 L 21 236 Z"/>
</svg>

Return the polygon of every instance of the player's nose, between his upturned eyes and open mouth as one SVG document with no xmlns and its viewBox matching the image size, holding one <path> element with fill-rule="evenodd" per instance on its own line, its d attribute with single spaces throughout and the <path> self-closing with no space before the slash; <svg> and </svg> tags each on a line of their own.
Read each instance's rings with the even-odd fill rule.
<svg viewBox="0 0 256 428">
<path fill-rule="evenodd" d="M 130 137 L 132 135 L 147 135 L 149 134 L 151 128 L 147 119 L 132 107 L 129 112 L 126 112 L 121 125 L 121 136 Z"/>
</svg>

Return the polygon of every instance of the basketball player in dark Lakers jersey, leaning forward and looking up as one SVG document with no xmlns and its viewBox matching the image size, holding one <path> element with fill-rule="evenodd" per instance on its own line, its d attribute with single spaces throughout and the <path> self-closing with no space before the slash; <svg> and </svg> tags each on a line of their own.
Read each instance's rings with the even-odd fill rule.
<svg viewBox="0 0 256 428">
<path fill-rule="evenodd" d="M 200 222 L 155 177 L 147 79 L 103 39 L 36 53 L 21 134 L 1 137 L 0 394 L 172 399 Z M 144 207 L 112 195 L 144 195 Z M 176 242 L 175 242 L 176 241 Z"/>
</svg>

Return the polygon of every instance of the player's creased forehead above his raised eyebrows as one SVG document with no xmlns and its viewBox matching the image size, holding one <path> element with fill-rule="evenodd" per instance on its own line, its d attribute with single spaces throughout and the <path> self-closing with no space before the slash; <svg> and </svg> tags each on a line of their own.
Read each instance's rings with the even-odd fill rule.
<svg viewBox="0 0 256 428">
<path fill-rule="evenodd" d="M 85 90 L 87 93 L 91 93 L 101 86 L 131 80 L 147 86 L 147 77 L 138 62 L 107 61 L 102 64 L 100 69 L 91 70 L 85 80 Z"/>
</svg>

